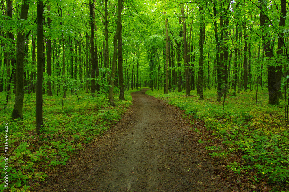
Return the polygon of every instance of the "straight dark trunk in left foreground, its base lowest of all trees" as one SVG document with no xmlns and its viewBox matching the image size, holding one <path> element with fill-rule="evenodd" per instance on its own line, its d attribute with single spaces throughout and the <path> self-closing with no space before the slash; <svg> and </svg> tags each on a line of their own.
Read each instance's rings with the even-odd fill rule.
<svg viewBox="0 0 289 192">
<path fill-rule="evenodd" d="M 42 81 L 44 65 L 44 39 L 43 39 L 43 1 L 37 2 L 37 77 L 36 77 L 36 133 L 42 133 L 43 127 L 43 98 Z"/>
</svg>

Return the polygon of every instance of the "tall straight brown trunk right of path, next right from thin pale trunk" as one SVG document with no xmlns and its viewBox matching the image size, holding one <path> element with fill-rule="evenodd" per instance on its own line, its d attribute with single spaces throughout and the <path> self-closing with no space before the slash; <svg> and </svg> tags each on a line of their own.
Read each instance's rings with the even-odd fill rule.
<svg viewBox="0 0 289 192">
<path fill-rule="evenodd" d="M 187 46 L 187 35 L 186 35 L 186 22 L 185 22 L 185 12 L 184 4 L 181 4 L 181 14 L 183 20 L 183 42 L 184 42 L 184 66 L 186 75 L 186 96 L 190 96 L 190 75 L 188 68 L 188 46 Z"/>
</svg>

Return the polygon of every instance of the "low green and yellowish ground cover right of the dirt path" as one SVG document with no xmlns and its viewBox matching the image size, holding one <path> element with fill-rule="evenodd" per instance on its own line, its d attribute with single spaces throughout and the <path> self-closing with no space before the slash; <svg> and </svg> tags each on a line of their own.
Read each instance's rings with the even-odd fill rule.
<svg viewBox="0 0 289 192">
<path fill-rule="evenodd" d="M 192 95 L 197 95 L 192 91 Z M 248 182 L 267 182 L 273 191 L 288 191 L 289 138 L 284 120 L 285 101 L 280 105 L 267 103 L 266 90 L 257 95 L 242 92 L 237 97 L 227 95 L 224 109 L 216 102 L 216 91 L 198 96 L 184 96 L 184 92 L 163 94 L 163 90 L 147 91 L 183 109 L 189 121 L 200 120 L 218 139 L 218 144 L 206 142 L 210 155 L 222 159 L 228 173 L 248 178 Z M 200 130 L 195 130 L 200 131 Z"/>
</svg>

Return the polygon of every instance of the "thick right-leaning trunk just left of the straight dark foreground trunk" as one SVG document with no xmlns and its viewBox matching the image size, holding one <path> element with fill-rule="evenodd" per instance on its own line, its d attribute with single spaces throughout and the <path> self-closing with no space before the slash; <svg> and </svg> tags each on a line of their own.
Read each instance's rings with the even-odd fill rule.
<svg viewBox="0 0 289 192">
<path fill-rule="evenodd" d="M 20 18 L 21 20 L 27 20 L 29 4 L 26 2 L 21 6 Z M 42 37 L 43 40 L 43 37 Z M 25 32 L 20 31 L 17 34 L 16 45 L 16 96 L 14 109 L 12 111 L 11 119 L 23 118 L 22 108 L 24 100 L 24 56 L 25 56 Z M 42 85 L 42 84 L 41 84 Z"/>
</svg>

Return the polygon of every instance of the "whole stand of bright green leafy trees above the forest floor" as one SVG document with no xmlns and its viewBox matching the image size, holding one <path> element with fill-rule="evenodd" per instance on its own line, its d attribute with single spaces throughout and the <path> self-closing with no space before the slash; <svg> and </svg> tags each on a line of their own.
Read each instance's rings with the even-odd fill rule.
<svg viewBox="0 0 289 192">
<path fill-rule="evenodd" d="M 116 94 L 125 99 L 125 90 L 141 86 L 187 96 L 197 86 L 200 98 L 215 87 L 221 101 L 227 92 L 238 96 L 260 84 L 268 86 L 269 104 L 282 96 L 288 74 L 284 0 L 270 6 L 265 1 L 141 0 L 122 1 L 121 7 L 107 0 L 64 0 L 43 5 L 40 23 L 36 6 L 28 10 L 23 1 L 15 9 L 14 3 L 0 5 L 0 92 L 8 93 L 6 103 L 16 98 L 12 119 L 23 117 L 24 95 L 35 91 L 37 110 L 45 91 L 65 99 L 66 90 L 85 90 L 105 95 L 110 105 Z"/>
</svg>

